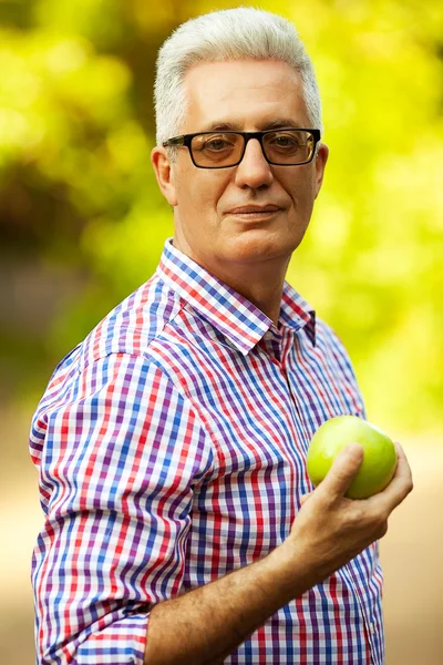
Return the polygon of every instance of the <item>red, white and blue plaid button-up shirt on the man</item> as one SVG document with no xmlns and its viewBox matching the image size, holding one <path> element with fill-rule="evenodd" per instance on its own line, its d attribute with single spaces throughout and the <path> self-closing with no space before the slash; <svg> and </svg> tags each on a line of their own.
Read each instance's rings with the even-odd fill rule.
<svg viewBox="0 0 443 665">
<path fill-rule="evenodd" d="M 285 284 L 276 327 L 173 247 L 56 367 L 32 420 L 45 523 L 38 663 L 143 664 L 150 606 L 265 556 L 310 491 L 315 430 L 364 417 L 349 358 Z M 384 662 L 373 544 L 225 663 Z"/>
</svg>

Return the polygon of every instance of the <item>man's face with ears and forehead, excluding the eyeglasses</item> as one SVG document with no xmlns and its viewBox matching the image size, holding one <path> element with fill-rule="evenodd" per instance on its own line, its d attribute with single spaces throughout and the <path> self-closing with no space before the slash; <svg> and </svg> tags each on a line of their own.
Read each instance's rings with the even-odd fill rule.
<svg viewBox="0 0 443 665">
<path fill-rule="evenodd" d="M 274 129 L 276 122 L 311 126 L 301 80 L 286 63 L 203 63 L 188 71 L 185 83 L 187 113 L 181 134 L 254 132 Z M 162 176 L 153 156 L 162 191 L 174 206 L 174 244 L 215 274 L 217 265 L 287 263 L 309 224 L 327 157 L 327 146 L 320 145 L 309 164 L 275 166 L 251 140 L 240 164 L 219 170 L 194 166 L 188 150 L 178 149 L 176 162 Z M 265 206 L 274 209 L 262 211 Z"/>
</svg>

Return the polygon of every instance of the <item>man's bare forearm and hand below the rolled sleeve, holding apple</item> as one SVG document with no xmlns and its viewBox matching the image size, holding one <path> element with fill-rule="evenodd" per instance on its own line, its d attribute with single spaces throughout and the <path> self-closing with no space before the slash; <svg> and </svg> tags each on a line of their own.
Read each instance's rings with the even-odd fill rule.
<svg viewBox="0 0 443 665">
<path fill-rule="evenodd" d="M 398 454 L 395 475 L 383 492 L 351 500 L 344 493 L 363 459 L 362 448 L 352 443 L 303 501 L 281 545 L 250 565 L 155 605 L 146 665 L 219 665 L 277 610 L 384 535 L 388 516 L 412 489 L 400 447 Z"/>
</svg>

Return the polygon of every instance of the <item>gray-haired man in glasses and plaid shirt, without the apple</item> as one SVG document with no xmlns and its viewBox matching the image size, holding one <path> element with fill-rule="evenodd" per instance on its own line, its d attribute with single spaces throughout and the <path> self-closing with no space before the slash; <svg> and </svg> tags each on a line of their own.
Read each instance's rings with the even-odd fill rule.
<svg viewBox="0 0 443 665">
<path fill-rule="evenodd" d="M 312 491 L 306 452 L 364 417 L 349 358 L 285 282 L 328 147 L 311 63 L 235 9 L 162 48 L 152 161 L 175 233 L 155 275 L 56 368 L 31 448 L 41 664 L 383 663 L 377 540 L 412 488 Z"/>
</svg>

